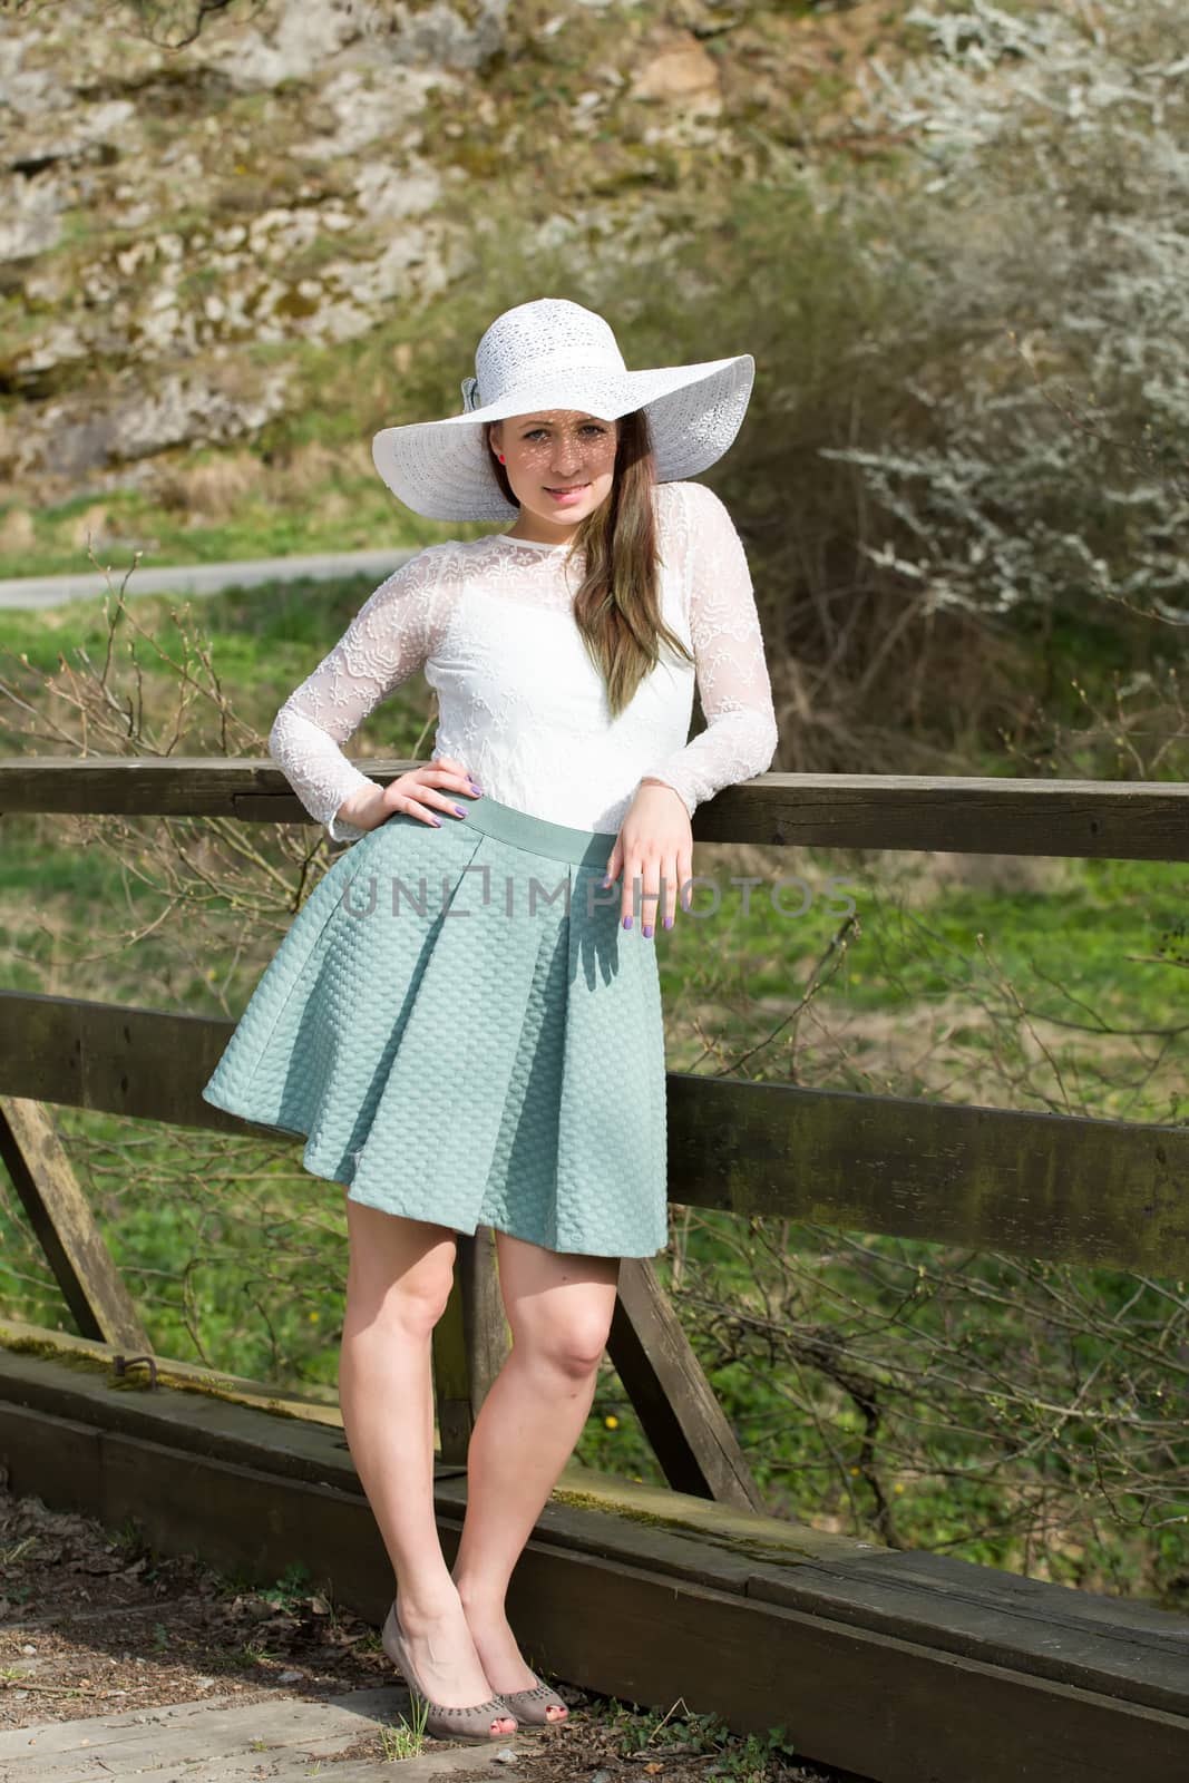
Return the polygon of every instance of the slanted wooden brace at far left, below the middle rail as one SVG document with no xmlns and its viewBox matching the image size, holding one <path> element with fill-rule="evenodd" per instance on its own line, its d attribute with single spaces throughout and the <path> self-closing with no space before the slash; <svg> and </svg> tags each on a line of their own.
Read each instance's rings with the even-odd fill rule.
<svg viewBox="0 0 1189 1783">
<path fill-rule="evenodd" d="M 0 1157 L 80 1335 L 152 1353 L 132 1294 L 39 1102 L 0 1095 Z"/>
</svg>

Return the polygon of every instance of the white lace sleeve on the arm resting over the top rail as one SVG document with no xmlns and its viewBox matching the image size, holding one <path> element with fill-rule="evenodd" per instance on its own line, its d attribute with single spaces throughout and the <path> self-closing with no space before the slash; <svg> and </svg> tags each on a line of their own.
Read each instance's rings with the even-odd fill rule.
<svg viewBox="0 0 1189 1783">
<path fill-rule="evenodd" d="M 674 483 L 685 505 L 690 640 L 706 729 L 644 777 L 686 811 L 770 767 L 779 742 L 750 571 L 727 508 L 706 483 Z"/>
</svg>

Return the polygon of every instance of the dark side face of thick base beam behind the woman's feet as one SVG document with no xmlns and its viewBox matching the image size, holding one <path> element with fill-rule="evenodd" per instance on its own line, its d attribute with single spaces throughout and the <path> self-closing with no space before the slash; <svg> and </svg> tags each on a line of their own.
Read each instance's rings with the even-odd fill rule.
<svg viewBox="0 0 1189 1783">
<path fill-rule="evenodd" d="M 39 1455 L 11 1448 L 21 1417 L 41 1425 Z M 378 1623 L 390 1578 L 364 1500 L 102 1430 L 84 1471 L 75 1430 L 0 1403 L 14 1491 L 37 1491 L 29 1457 L 45 1467 L 55 1439 L 73 1464 L 55 1471 L 73 1507 L 89 1485 L 105 1523 L 135 1517 L 159 1551 L 200 1553 L 260 1582 L 301 1560 Z M 458 1526 L 439 1530 L 451 1558 Z M 1111 1696 L 1075 1689 L 538 1535 L 517 1562 L 508 1614 L 533 1664 L 560 1678 L 645 1706 L 683 1697 L 740 1733 L 779 1722 L 802 1754 L 877 1783 L 1171 1783 L 1189 1763 L 1189 1715 L 1132 1701 L 1125 1681 Z"/>
</svg>

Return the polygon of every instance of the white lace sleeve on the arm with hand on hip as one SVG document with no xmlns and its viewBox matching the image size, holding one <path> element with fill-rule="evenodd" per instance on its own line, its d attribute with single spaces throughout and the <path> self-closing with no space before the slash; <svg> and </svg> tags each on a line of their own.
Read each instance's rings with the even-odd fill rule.
<svg viewBox="0 0 1189 1783">
<path fill-rule="evenodd" d="M 449 569 L 449 546 L 426 546 L 392 571 L 273 719 L 269 756 L 333 842 L 365 834 L 335 813 L 357 788 L 378 786 L 339 745 L 440 644 Z"/>
</svg>

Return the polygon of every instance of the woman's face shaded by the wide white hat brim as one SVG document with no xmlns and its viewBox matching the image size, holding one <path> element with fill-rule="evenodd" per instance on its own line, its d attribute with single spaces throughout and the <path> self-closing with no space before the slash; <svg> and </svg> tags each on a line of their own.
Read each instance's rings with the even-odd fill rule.
<svg viewBox="0 0 1189 1783">
<path fill-rule="evenodd" d="M 576 408 L 542 408 L 494 421 L 490 437 L 521 503 L 521 538 L 562 542 L 611 494 L 615 421 Z"/>
</svg>

